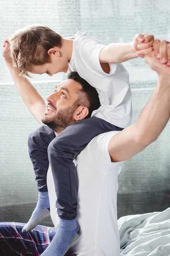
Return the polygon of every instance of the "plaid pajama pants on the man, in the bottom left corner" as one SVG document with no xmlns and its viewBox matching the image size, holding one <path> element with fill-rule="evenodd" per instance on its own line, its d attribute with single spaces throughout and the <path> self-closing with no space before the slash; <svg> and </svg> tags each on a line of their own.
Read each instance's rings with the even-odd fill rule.
<svg viewBox="0 0 170 256">
<path fill-rule="evenodd" d="M 24 223 L 0 222 L 0 256 L 40 256 L 55 236 L 54 227 L 37 225 L 23 234 Z M 68 251 L 65 256 L 74 256 Z"/>
</svg>

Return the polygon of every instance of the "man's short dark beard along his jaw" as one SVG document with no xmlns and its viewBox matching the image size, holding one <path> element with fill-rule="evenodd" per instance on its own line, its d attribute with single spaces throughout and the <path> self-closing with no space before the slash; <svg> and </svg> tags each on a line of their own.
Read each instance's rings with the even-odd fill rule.
<svg viewBox="0 0 170 256">
<path fill-rule="evenodd" d="M 73 114 L 77 107 L 78 102 L 75 102 L 71 107 L 58 110 L 51 117 L 43 116 L 41 121 L 55 132 L 60 133 L 67 128 L 68 125 L 74 123 Z"/>
</svg>

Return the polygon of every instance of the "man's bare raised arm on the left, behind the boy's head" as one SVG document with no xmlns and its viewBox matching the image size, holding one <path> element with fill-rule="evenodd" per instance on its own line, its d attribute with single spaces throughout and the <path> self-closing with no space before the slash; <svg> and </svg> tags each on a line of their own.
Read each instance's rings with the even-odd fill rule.
<svg viewBox="0 0 170 256">
<path fill-rule="evenodd" d="M 45 101 L 27 78 L 19 76 L 19 71 L 11 63 L 10 47 L 8 43 L 6 43 L 5 49 L 3 50 L 3 57 L 23 102 L 35 119 L 42 124 L 41 118 L 44 116 L 46 109 Z"/>
</svg>

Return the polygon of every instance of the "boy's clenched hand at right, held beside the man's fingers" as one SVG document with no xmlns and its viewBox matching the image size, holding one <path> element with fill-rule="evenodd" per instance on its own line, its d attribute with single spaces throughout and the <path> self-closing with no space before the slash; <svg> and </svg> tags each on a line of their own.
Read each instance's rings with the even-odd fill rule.
<svg viewBox="0 0 170 256">
<path fill-rule="evenodd" d="M 153 35 L 137 34 L 133 40 L 137 56 L 144 58 L 144 55 L 151 53 L 153 51 L 153 40 Z"/>
</svg>

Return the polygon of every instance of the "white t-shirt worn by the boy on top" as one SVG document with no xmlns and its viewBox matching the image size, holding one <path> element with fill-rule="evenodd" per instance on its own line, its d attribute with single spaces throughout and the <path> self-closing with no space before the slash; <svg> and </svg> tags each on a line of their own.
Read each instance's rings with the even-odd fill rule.
<svg viewBox="0 0 170 256">
<path fill-rule="evenodd" d="M 127 70 L 122 63 L 109 63 L 110 73 L 105 73 L 99 62 L 99 52 L 105 44 L 79 31 L 73 38 L 73 52 L 68 70 L 77 71 L 99 94 L 101 107 L 93 111 L 91 116 L 97 116 L 121 128 L 127 127 L 132 118 Z"/>
</svg>

